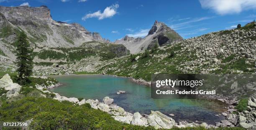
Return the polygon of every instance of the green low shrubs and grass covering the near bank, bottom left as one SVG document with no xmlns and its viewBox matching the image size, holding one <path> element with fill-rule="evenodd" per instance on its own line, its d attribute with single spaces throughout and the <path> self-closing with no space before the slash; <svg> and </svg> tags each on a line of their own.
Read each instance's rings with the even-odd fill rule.
<svg viewBox="0 0 256 130">
<path fill-rule="evenodd" d="M 15 102 L 2 102 L 0 121 L 25 121 L 33 118 L 33 130 L 155 130 L 115 121 L 111 115 L 90 108 L 90 104 L 73 105 L 51 98 L 26 97 Z M 3 130 L 8 130 L 4 128 Z M 10 128 L 12 129 L 12 128 Z M 172 130 L 206 130 L 203 127 L 173 128 Z M 211 129 L 215 130 L 215 129 Z M 244 130 L 242 128 L 218 128 L 217 130 Z"/>
</svg>

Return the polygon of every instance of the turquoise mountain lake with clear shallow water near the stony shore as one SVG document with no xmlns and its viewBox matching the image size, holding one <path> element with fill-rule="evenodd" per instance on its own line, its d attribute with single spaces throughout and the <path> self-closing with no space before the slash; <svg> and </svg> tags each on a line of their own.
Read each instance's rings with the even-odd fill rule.
<svg viewBox="0 0 256 130">
<path fill-rule="evenodd" d="M 114 99 L 114 103 L 128 112 L 150 114 L 150 110 L 158 110 L 166 115 L 173 113 L 174 120 L 188 120 L 215 124 L 224 117 L 215 116 L 225 109 L 220 102 L 195 99 L 152 99 L 151 89 L 131 82 L 128 78 L 108 75 L 68 75 L 52 76 L 61 84 L 51 89 L 66 97 L 84 97 L 85 99 L 102 99 L 106 96 Z M 116 94 L 118 90 L 125 94 Z"/>
</svg>

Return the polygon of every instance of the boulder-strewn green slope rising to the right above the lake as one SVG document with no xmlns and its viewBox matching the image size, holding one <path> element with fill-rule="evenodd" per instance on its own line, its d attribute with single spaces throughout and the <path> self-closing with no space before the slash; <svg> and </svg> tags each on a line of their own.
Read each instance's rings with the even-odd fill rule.
<svg viewBox="0 0 256 130">
<path fill-rule="evenodd" d="M 97 72 L 151 80 L 151 74 L 256 73 L 256 26 L 208 33 L 105 61 Z"/>
</svg>

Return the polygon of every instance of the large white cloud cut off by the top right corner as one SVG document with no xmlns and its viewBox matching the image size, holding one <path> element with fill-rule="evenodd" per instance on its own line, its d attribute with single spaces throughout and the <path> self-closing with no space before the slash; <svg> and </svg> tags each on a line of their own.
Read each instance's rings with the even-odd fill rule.
<svg viewBox="0 0 256 130">
<path fill-rule="evenodd" d="M 202 8 L 214 10 L 220 15 L 240 13 L 256 9 L 256 0 L 199 0 Z"/>
</svg>

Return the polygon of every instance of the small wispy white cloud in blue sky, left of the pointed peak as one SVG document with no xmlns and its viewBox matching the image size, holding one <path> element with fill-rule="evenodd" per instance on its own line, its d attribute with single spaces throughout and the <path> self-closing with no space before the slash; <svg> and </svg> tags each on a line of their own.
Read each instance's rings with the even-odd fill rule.
<svg viewBox="0 0 256 130">
<path fill-rule="evenodd" d="M 95 13 L 89 13 L 89 14 L 85 15 L 84 17 L 82 17 L 82 20 L 86 20 L 88 18 L 98 18 L 99 20 L 102 20 L 104 18 L 113 17 L 117 13 L 117 8 L 118 7 L 119 7 L 118 4 L 111 5 L 111 6 L 107 7 L 107 8 L 105 8 L 103 13 L 101 13 L 101 11 L 98 10 Z"/>
</svg>

